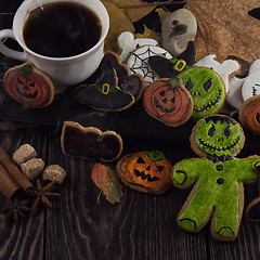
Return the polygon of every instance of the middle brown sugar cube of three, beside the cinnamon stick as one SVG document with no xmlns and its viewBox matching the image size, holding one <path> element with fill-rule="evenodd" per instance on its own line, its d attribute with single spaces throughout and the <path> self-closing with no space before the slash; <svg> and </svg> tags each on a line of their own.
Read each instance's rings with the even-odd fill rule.
<svg viewBox="0 0 260 260">
<path fill-rule="evenodd" d="M 22 171 L 29 179 L 36 179 L 44 169 L 44 161 L 41 158 L 32 158 L 21 165 Z"/>
</svg>

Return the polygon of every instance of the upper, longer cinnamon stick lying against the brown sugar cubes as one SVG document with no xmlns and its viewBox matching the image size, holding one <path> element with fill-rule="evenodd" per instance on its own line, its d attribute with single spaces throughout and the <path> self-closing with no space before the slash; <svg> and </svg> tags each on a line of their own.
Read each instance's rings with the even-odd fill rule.
<svg viewBox="0 0 260 260">
<path fill-rule="evenodd" d="M 12 158 L 6 154 L 6 152 L 0 146 L 0 164 L 4 166 L 6 171 L 12 176 L 15 182 L 20 184 L 25 191 L 28 188 L 34 188 L 34 185 L 29 182 L 27 177 L 20 170 Z"/>
</svg>

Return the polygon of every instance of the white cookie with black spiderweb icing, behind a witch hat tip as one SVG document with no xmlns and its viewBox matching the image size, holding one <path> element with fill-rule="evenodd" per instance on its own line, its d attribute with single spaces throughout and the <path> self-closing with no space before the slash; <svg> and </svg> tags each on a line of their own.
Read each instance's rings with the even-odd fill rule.
<svg viewBox="0 0 260 260">
<path fill-rule="evenodd" d="M 146 87 L 158 79 L 147 64 L 148 58 L 154 55 L 172 58 L 171 54 L 160 47 L 143 46 L 134 50 L 127 60 L 127 65 L 131 72 L 143 76 Z"/>
</svg>

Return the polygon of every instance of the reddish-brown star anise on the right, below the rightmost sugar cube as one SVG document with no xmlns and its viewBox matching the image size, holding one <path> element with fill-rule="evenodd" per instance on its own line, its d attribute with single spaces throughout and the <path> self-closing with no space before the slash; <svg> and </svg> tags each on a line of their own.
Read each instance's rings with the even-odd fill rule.
<svg viewBox="0 0 260 260">
<path fill-rule="evenodd" d="M 36 197 L 31 206 L 31 210 L 36 210 L 36 208 L 39 206 L 40 203 L 42 203 L 47 208 L 52 208 L 52 204 L 49 198 L 61 196 L 58 193 L 51 192 L 54 184 L 55 182 L 50 182 L 42 187 L 40 180 L 37 179 L 36 190 L 30 192 L 30 195 Z"/>
</svg>

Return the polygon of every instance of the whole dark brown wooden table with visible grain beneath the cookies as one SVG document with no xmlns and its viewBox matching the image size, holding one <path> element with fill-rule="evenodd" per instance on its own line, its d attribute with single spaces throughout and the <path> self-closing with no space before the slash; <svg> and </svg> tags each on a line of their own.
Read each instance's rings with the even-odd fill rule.
<svg viewBox="0 0 260 260">
<path fill-rule="evenodd" d="M 13 13 L 21 2 L 1 1 L 0 13 Z M 1 28 L 9 23 L 9 14 L 0 15 Z M 64 156 L 61 128 L 14 122 L 1 122 L 0 126 L 0 145 L 10 155 L 22 144 L 29 143 L 46 165 L 57 164 L 67 171 L 64 183 L 54 188 L 62 196 L 52 200 L 52 209 L 41 207 L 18 225 L 5 223 L 0 214 L 1 260 L 260 259 L 260 224 L 249 222 L 245 216 L 237 238 L 221 243 L 211 238 L 209 224 L 198 234 L 178 227 L 176 217 L 190 188 L 172 187 L 164 195 L 147 195 L 123 186 L 121 203 L 112 205 L 104 195 L 98 202 L 100 190 L 90 177 L 94 161 Z M 122 155 L 159 150 L 171 164 L 196 157 L 187 141 L 138 134 L 125 134 L 122 139 Z M 255 147 L 247 145 L 238 157 L 260 154 Z M 257 184 L 245 185 L 245 205 L 257 196 Z M 5 202 L 0 194 L 0 208 Z"/>
</svg>

